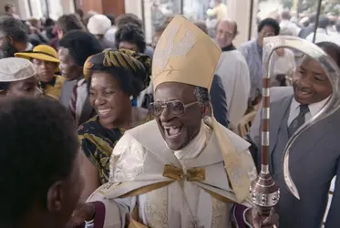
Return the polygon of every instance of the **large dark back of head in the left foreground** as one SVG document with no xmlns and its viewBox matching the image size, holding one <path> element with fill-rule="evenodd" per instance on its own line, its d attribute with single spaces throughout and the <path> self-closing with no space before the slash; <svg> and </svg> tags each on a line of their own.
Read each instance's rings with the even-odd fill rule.
<svg viewBox="0 0 340 228">
<path fill-rule="evenodd" d="M 69 111 L 49 98 L 0 107 L 0 227 L 65 227 L 83 186 Z"/>
</svg>

